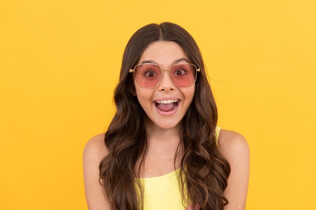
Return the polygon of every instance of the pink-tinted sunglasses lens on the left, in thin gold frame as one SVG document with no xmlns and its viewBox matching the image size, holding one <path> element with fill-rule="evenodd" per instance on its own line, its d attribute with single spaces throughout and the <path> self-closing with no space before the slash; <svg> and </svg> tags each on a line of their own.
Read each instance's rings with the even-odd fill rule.
<svg viewBox="0 0 316 210">
<path fill-rule="evenodd" d="M 161 69 L 156 64 L 139 64 L 135 67 L 134 77 L 140 87 L 152 88 L 159 82 Z"/>
</svg>

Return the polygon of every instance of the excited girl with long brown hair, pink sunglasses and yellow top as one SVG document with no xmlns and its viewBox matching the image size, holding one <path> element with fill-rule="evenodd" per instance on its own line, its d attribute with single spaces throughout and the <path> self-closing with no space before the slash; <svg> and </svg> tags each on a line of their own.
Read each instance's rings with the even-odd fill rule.
<svg viewBox="0 0 316 210">
<path fill-rule="evenodd" d="M 173 23 L 130 38 L 106 133 L 83 152 L 89 210 L 245 209 L 249 148 L 217 127 L 200 50 Z"/>
</svg>

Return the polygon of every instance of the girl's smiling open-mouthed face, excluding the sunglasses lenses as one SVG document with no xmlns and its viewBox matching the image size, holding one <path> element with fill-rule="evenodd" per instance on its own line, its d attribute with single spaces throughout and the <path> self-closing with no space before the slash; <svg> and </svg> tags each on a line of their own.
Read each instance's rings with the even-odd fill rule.
<svg viewBox="0 0 316 210">
<path fill-rule="evenodd" d="M 170 68 L 176 63 L 188 63 L 188 60 L 176 42 L 155 41 L 143 51 L 138 63 L 151 62 L 161 68 Z M 134 85 L 137 99 L 150 119 L 149 123 L 163 129 L 175 128 L 181 121 L 193 100 L 195 90 L 195 84 L 187 88 L 175 87 L 166 69 L 163 69 L 162 78 L 154 88 L 140 87 L 135 81 Z"/>
</svg>

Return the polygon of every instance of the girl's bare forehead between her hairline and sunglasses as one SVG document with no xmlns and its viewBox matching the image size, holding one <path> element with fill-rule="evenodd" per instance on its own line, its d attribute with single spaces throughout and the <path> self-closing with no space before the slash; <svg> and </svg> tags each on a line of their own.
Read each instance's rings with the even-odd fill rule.
<svg viewBox="0 0 316 210">
<path fill-rule="evenodd" d="M 189 60 L 182 47 L 176 42 L 154 41 L 144 49 L 138 63 L 150 60 L 156 64 L 169 66 L 180 58 Z"/>
</svg>

